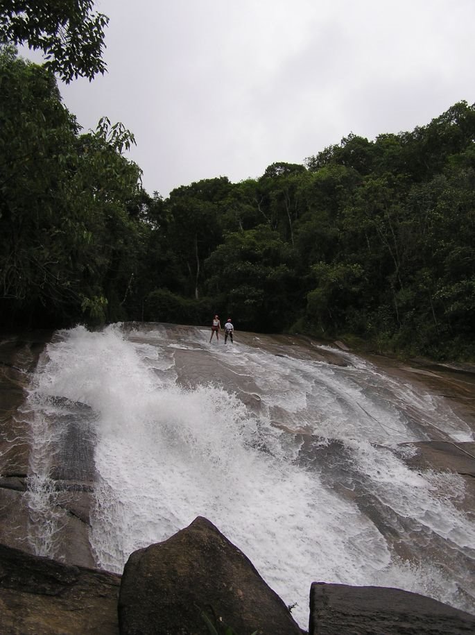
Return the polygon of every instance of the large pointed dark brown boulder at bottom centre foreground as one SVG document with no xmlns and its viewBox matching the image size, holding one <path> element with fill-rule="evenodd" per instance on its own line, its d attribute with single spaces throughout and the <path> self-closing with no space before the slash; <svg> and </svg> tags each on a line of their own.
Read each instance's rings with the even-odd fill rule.
<svg viewBox="0 0 475 635">
<path fill-rule="evenodd" d="M 301 635 L 250 560 L 206 518 L 134 552 L 119 596 L 122 635 L 209 635 L 200 616 L 250 635 Z"/>
</svg>

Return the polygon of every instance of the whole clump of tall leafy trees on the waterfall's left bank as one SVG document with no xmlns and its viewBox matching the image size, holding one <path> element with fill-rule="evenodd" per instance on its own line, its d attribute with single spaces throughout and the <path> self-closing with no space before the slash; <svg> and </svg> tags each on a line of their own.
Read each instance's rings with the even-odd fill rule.
<svg viewBox="0 0 475 635">
<path fill-rule="evenodd" d="M 54 76 L 0 53 L 0 304 L 2 319 L 58 324 L 117 319 L 143 250 L 130 214 L 140 169 L 133 142 L 101 121 L 78 134 Z"/>
</svg>

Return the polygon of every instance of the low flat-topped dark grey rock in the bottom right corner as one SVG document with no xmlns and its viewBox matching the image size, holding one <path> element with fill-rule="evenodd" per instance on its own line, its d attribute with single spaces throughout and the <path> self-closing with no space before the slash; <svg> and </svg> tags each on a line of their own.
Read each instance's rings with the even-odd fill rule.
<svg viewBox="0 0 475 635">
<path fill-rule="evenodd" d="M 379 586 L 313 582 L 309 635 L 451 635 L 475 633 L 475 617 L 425 598 Z"/>
</svg>

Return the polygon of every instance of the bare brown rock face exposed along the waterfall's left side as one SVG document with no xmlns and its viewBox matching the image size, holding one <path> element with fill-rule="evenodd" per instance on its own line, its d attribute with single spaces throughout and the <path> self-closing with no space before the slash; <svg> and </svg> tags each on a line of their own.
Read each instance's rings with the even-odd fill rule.
<svg viewBox="0 0 475 635">
<path fill-rule="evenodd" d="M 50 339 L 49 331 L 0 335 L 0 543 L 31 553 L 35 552 L 28 540 L 35 524 L 28 504 L 31 425 L 18 408 L 24 403 L 38 359 Z M 68 564 L 92 567 L 88 530 L 95 481 L 94 439 L 89 430 L 75 426 L 74 421 L 62 420 L 60 425 L 66 432 L 50 474 L 55 482 L 56 504 L 63 513 L 55 557 Z"/>
</svg>

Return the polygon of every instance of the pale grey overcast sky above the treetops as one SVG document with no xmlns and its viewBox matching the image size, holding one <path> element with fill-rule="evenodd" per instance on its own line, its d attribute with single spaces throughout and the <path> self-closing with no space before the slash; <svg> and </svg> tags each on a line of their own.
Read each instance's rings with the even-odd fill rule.
<svg viewBox="0 0 475 635">
<path fill-rule="evenodd" d="M 350 132 L 475 102 L 474 0 L 97 0 L 108 72 L 62 86 L 88 130 L 132 130 L 145 189 L 257 178 Z"/>
</svg>

